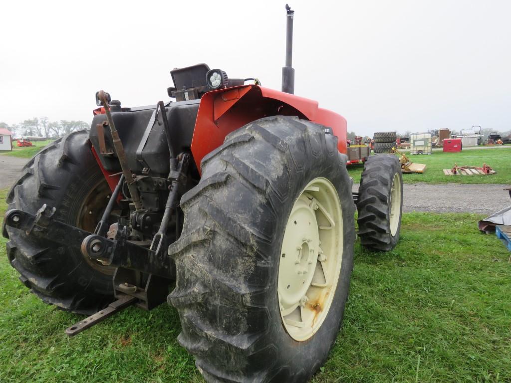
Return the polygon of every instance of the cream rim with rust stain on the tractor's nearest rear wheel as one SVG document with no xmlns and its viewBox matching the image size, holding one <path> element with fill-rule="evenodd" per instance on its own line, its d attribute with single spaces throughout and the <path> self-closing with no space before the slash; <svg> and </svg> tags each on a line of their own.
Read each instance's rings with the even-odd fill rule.
<svg viewBox="0 0 511 383">
<path fill-rule="evenodd" d="M 326 319 L 339 280 L 342 249 L 339 195 L 328 179 L 316 178 L 294 203 L 278 266 L 282 323 L 294 340 L 311 338 Z"/>
</svg>

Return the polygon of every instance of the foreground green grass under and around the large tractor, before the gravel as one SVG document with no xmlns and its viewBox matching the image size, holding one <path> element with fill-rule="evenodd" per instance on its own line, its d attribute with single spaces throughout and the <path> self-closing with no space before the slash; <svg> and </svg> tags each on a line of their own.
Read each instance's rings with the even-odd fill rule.
<svg viewBox="0 0 511 383">
<path fill-rule="evenodd" d="M 509 253 L 480 218 L 408 213 L 394 251 L 357 241 L 344 327 L 313 382 L 511 381 Z M 69 339 L 83 317 L 32 295 L 0 242 L 0 382 L 203 381 L 175 309 L 130 307 Z"/>
</svg>

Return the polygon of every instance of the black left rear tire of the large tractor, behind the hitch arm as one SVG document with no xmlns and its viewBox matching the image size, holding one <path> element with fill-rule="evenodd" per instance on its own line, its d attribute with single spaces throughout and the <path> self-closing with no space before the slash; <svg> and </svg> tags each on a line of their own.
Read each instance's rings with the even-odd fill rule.
<svg viewBox="0 0 511 383">
<path fill-rule="evenodd" d="M 52 142 L 23 172 L 8 194 L 8 209 L 35 214 L 47 204 L 56 207 L 56 220 L 94 230 L 110 189 L 86 130 Z M 87 201 L 91 203 L 85 206 Z M 112 270 L 85 259 L 79 248 L 56 245 L 8 226 L 3 234 L 9 238 L 7 256 L 19 279 L 44 302 L 90 315 L 113 300 Z"/>
</svg>

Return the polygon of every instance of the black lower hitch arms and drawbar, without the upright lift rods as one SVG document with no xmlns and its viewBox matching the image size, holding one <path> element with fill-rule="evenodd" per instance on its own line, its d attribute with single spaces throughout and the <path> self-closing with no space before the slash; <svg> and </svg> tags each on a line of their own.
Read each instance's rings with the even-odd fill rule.
<svg viewBox="0 0 511 383">
<path fill-rule="evenodd" d="M 5 213 L 4 224 L 59 245 L 90 249 L 97 258 L 110 257 L 110 264 L 117 266 L 113 276 L 114 295 L 117 300 L 100 312 L 69 327 L 66 330 L 69 336 L 76 335 L 130 305 L 136 304 L 150 310 L 166 301 L 168 286 L 175 274 L 174 264 L 169 256 L 165 254 L 156 258 L 156 252 L 126 241 L 122 236 L 117 241 L 111 241 L 64 224 L 54 220 L 54 213 L 55 208 L 46 204 L 35 216 L 26 211 L 11 209 Z M 97 259 L 96 257 L 91 258 Z"/>
</svg>

